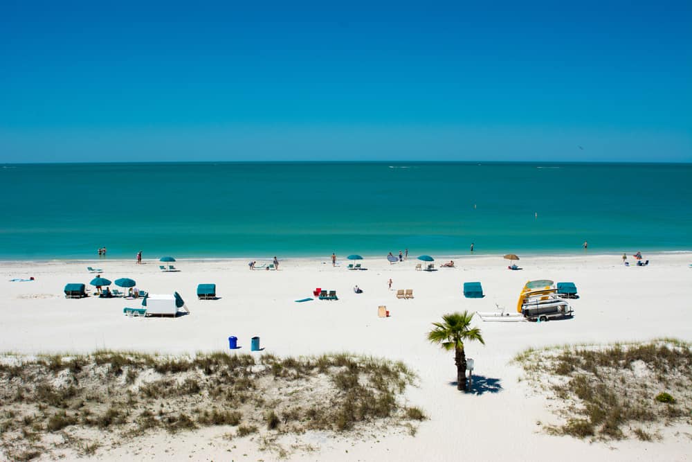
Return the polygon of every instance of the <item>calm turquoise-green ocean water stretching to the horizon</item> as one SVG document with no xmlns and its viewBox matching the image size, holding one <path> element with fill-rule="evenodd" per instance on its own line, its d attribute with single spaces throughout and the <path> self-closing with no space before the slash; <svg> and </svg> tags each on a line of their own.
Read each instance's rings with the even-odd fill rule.
<svg viewBox="0 0 692 462">
<path fill-rule="evenodd" d="M 690 251 L 692 164 L 6 164 L 0 213 L 3 260 Z"/>
</svg>

